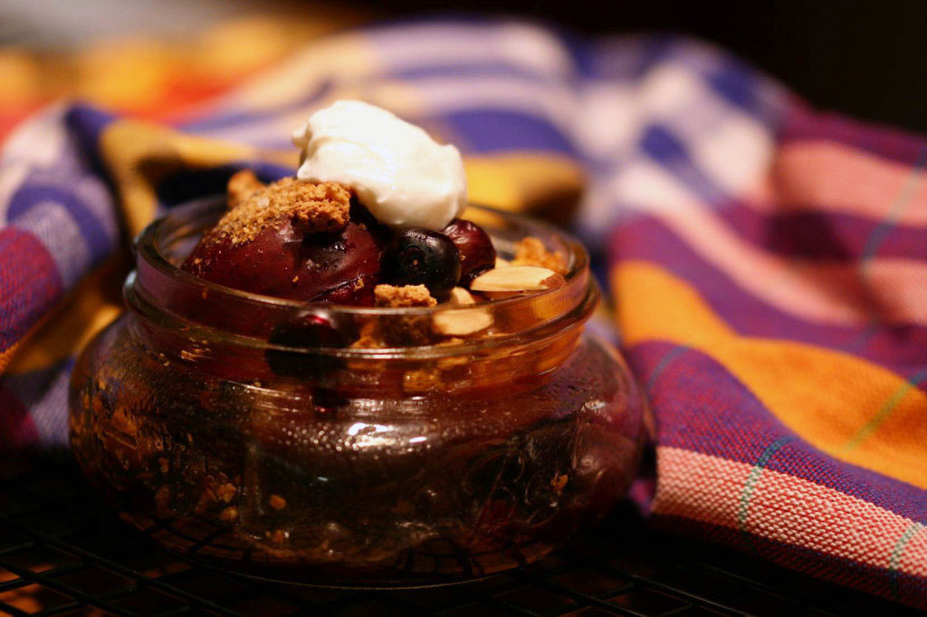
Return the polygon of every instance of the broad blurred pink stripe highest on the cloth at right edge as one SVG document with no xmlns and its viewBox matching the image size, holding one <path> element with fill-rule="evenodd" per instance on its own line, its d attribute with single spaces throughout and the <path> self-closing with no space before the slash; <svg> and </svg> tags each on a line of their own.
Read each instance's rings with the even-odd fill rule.
<svg viewBox="0 0 927 617">
<path fill-rule="evenodd" d="M 783 145 L 773 164 L 776 209 L 815 208 L 883 220 L 927 225 L 927 177 L 909 185 L 915 170 L 846 145 L 796 142 Z M 913 179 L 917 180 L 917 179 Z M 899 195 L 908 204 L 893 212 Z"/>
</svg>

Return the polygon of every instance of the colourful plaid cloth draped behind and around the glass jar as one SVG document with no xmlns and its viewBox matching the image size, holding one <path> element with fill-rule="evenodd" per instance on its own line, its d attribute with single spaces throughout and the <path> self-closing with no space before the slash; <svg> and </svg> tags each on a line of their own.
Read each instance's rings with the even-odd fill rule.
<svg viewBox="0 0 927 617">
<path fill-rule="evenodd" d="M 927 142 L 672 37 L 380 27 L 162 111 L 171 129 L 64 104 L 13 123 L 4 447 L 64 443 L 122 240 L 232 170 L 292 172 L 290 130 L 342 97 L 460 145 L 475 200 L 556 215 L 583 191 L 574 222 L 655 411 L 655 524 L 927 608 Z"/>
</svg>

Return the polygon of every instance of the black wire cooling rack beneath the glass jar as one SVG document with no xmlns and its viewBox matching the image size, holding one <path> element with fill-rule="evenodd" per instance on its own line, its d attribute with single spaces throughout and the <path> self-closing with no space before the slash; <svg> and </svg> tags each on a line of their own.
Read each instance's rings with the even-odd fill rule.
<svg viewBox="0 0 927 617">
<path fill-rule="evenodd" d="M 0 464 L 0 613 L 10 615 L 908 615 L 743 555 L 649 532 L 630 507 L 514 573 L 414 590 L 292 586 L 159 548 L 70 457 Z"/>
</svg>

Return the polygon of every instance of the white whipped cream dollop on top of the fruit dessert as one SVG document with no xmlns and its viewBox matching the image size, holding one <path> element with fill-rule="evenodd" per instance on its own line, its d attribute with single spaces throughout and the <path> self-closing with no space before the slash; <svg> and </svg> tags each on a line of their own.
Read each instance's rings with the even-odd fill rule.
<svg viewBox="0 0 927 617">
<path fill-rule="evenodd" d="M 299 180 L 347 184 L 377 220 L 441 230 L 466 208 L 461 154 L 381 107 L 337 101 L 293 133 Z"/>
</svg>

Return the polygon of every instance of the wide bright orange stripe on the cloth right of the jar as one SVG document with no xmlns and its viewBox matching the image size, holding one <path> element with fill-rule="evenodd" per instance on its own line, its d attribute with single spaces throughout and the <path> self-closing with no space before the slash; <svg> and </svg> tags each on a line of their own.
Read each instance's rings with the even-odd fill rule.
<svg viewBox="0 0 927 617">
<path fill-rule="evenodd" d="M 927 488 L 927 395 L 902 377 L 839 351 L 736 334 L 690 284 L 653 264 L 624 263 L 612 283 L 616 298 L 633 298 L 618 304 L 627 345 L 660 340 L 702 351 L 813 446 Z M 846 449 L 892 397 L 892 413 Z"/>
</svg>

